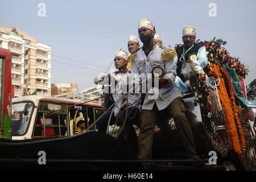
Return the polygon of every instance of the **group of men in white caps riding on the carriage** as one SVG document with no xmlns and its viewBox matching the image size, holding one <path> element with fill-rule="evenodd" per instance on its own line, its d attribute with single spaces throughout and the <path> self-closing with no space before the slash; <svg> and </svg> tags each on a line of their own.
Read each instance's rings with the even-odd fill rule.
<svg viewBox="0 0 256 182">
<path fill-rule="evenodd" d="M 129 36 L 127 48 L 131 53 L 130 56 L 122 49 L 115 53 L 114 65 L 118 71 L 94 78 L 95 84 L 112 79 L 115 87 L 115 92 L 106 97 L 106 100 L 115 102 L 115 107 L 113 112 L 112 110 L 105 112 L 97 122 L 98 132 L 108 133 L 107 127 L 116 123 L 122 127 L 118 140 L 122 142 L 126 139 L 127 147 L 139 159 L 151 159 L 155 126 L 160 118 L 160 111 L 166 111 L 168 119 L 174 119 L 186 158 L 200 159 L 191 126 L 185 115 L 186 107 L 182 93 L 188 91 L 184 78 L 186 64 L 189 64 L 191 69 L 207 66 L 205 47 L 195 43 L 196 31 L 190 26 L 183 28 L 184 44 L 176 50 L 163 46 L 162 37 L 156 34 L 156 28 L 151 20 L 139 21 L 138 35 L 139 38 L 134 35 Z M 139 40 L 143 43 L 142 47 L 139 45 Z M 117 92 L 117 88 L 130 88 L 131 80 L 141 81 L 142 74 L 146 75 L 147 80 L 150 80 L 151 76 L 157 77 L 158 97 L 152 97 L 156 92 L 154 89 L 146 89 L 144 93 Z M 149 75 L 151 76 L 148 77 Z M 108 109 L 109 105 L 104 102 L 104 109 Z M 134 125 L 139 127 L 138 137 Z M 79 132 L 80 130 L 76 129 L 76 133 Z"/>
</svg>

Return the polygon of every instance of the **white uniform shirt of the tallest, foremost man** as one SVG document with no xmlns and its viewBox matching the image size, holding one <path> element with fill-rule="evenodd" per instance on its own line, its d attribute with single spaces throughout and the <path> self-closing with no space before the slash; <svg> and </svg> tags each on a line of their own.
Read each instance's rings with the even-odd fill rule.
<svg viewBox="0 0 256 182">
<path fill-rule="evenodd" d="M 161 67 L 163 69 L 163 78 L 170 78 L 171 83 L 159 89 L 159 96 L 155 100 L 150 100 L 150 94 L 147 92 L 144 98 L 144 103 L 142 109 L 152 110 L 154 104 L 159 110 L 165 109 L 171 102 L 177 98 L 182 97 L 180 89 L 177 88 L 175 84 L 176 69 L 174 65 L 174 60 L 162 60 L 162 52 L 164 50 L 158 46 L 146 56 L 143 49 L 137 51 L 137 56 L 131 63 L 131 72 L 147 74 L 152 73 L 152 69 L 155 67 Z"/>
</svg>

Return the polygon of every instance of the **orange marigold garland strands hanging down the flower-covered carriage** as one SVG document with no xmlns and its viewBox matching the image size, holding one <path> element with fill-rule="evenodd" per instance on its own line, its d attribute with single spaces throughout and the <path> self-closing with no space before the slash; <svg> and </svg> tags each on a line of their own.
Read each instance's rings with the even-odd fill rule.
<svg viewBox="0 0 256 182">
<path fill-rule="evenodd" d="M 216 65 L 214 63 L 210 64 L 209 67 L 212 68 L 209 71 L 209 75 L 210 76 L 218 76 L 220 78 L 220 84 L 218 85 L 217 89 L 218 89 L 218 93 L 220 96 L 221 105 L 222 105 L 222 107 L 224 107 L 224 110 L 225 110 L 224 122 L 225 122 L 225 126 L 226 126 L 226 133 L 232 142 L 234 151 L 238 154 L 239 158 L 243 158 L 242 150 L 245 151 L 245 138 L 243 136 L 241 122 L 240 122 L 240 119 L 237 114 L 236 102 L 234 100 L 234 93 L 232 90 L 232 85 L 230 85 L 231 81 L 229 79 L 229 76 L 225 75 L 226 78 L 228 78 L 228 80 L 229 80 L 228 81 L 229 93 L 230 93 L 230 97 L 229 97 L 229 94 L 228 94 L 226 86 L 225 86 L 224 79 L 221 78 L 221 76 L 222 76 L 221 72 L 220 72 L 221 69 L 218 67 L 218 65 Z M 222 71 L 224 71 L 224 69 Z M 232 92 L 230 92 L 230 90 L 232 90 Z M 231 100 L 231 102 L 227 102 L 230 100 Z M 234 112 L 232 110 L 232 106 L 233 106 Z M 238 126 L 238 130 L 240 133 L 241 142 L 238 138 L 236 124 Z"/>
</svg>

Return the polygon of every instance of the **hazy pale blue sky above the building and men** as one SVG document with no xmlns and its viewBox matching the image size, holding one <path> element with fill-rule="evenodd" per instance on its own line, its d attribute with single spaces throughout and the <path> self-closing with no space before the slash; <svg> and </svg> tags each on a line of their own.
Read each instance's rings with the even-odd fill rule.
<svg viewBox="0 0 256 182">
<path fill-rule="evenodd" d="M 46 16 L 38 16 L 39 3 L 46 5 Z M 216 4 L 216 17 L 209 16 L 210 3 Z M 79 90 L 93 86 L 93 78 L 106 71 L 115 52 L 120 48 L 127 51 L 128 36 L 138 35 L 142 18 L 152 20 L 165 46 L 182 43 L 181 32 L 188 25 L 196 28 L 196 39 L 216 36 L 225 40 L 230 55 L 240 57 L 250 68 L 246 84 L 256 78 L 254 0 L 0 0 L 0 7 L 0 26 L 16 27 L 38 42 L 51 45 L 52 83 L 76 82 Z"/>
</svg>

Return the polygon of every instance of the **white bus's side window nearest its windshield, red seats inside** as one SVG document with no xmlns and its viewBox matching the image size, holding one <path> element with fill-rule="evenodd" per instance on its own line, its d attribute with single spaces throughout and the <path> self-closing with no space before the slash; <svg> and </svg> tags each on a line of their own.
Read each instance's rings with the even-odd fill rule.
<svg viewBox="0 0 256 182">
<path fill-rule="evenodd" d="M 40 102 L 38 115 L 36 117 L 34 138 L 69 136 L 69 125 L 65 122 L 68 121 L 67 109 L 56 111 L 50 115 L 48 114 L 50 111 L 63 109 L 65 107 L 67 107 L 65 104 Z"/>
</svg>

